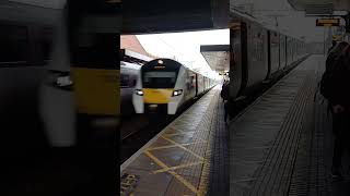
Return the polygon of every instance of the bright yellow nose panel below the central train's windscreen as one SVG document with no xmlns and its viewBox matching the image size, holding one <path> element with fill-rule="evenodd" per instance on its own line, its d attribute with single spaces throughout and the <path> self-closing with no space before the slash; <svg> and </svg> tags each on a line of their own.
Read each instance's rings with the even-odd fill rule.
<svg viewBox="0 0 350 196">
<path fill-rule="evenodd" d="M 170 98 L 174 91 L 173 88 L 143 88 L 143 101 L 144 103 L 168 103 Z"/>
</svg>

